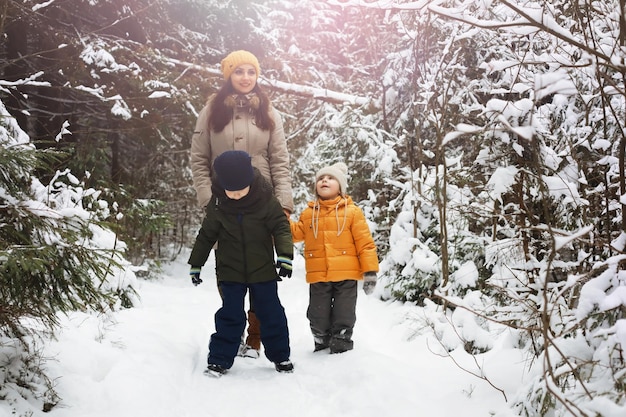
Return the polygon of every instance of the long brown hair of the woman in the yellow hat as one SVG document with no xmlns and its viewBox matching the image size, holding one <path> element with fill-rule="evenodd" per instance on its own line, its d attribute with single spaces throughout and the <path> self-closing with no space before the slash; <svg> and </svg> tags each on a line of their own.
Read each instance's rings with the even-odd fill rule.
<svg viewBox="0 0 626 417">
<path fill-rule="evenodd" d="M 269 97 L 261 90 L 259 84 L 254 86 L 252 92 L 259 98 L 259 108 L 254 111 L 254 122 L 261 130 L 273 130 L 276 125 L 274 124 L 274 119 L 270 116 Z M 224 127 L 226 127 L 233 118 L 233 109 L 224 103 L 226 97 L 231 94 L 237 94 L 237 92 L 229 80 L 224 83 L 213 98 L 211 114 L 209 115 L 209 128 L 214 132 L 224 130 Z"/>
</svg>

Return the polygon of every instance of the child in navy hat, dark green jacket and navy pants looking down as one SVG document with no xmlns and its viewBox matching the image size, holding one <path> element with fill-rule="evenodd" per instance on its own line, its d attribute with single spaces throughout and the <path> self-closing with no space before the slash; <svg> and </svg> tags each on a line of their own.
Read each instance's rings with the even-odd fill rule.
<svg viewBox="0 0 626 417">
<path fill-rule="evenodd" d="M 215 314 L 205 373 L 221 376 L 233 365 L 246 325 L 248 291 L 261 322 L 265 356 L 278 372 L 292 372 L 287 317 L 278 297 L 280 277 L 291 277 L 293 241 L 289 221 L 271 185 L 244 151 L 227 151 L 213 163 L 216 181 L 188 263 L 194 285 L 215 249 L 222 307 Z M 274 251 L 277 254 L 274 261 Z M 279 268 L 278 273 L 276 268 Z"/>
</svg>

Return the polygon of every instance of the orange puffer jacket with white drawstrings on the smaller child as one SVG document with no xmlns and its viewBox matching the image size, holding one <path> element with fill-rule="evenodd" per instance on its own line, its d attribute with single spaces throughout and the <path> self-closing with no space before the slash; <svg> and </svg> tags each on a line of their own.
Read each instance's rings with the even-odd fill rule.
<svg viewBox="0 0 626 417">
<path fill-rule="evenodd" d="M 304 241 L 306 281 L 363 279 L 378 272 L 378 255 L 365 215 L 349 196 L 311 201 L 297 222 L 291 222 L 294 242 Z"/>
</svg>

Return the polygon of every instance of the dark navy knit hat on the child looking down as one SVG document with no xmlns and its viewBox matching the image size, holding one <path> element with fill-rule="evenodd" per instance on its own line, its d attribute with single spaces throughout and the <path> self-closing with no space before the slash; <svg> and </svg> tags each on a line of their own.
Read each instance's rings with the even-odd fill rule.
<svg viewBox="0 0 626 417">
<path fill-rule="evenodd" d="M 244 151 L 226 151 L 213 161 L 219 185 L 226 191 L 239 191 L 252 184 L 252 158 Z"/>
</svg>

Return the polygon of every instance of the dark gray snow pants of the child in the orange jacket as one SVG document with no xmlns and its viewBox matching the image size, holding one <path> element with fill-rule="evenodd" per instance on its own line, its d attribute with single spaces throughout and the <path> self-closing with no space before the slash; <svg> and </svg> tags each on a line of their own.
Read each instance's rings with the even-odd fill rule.
<svg viewBox="0 0 626 417">
<path fill-rule="evenodd" d="M 341 353 L 354 347 L 357 281 L 318 282 L 309 286 L 307 318 L 315 350 Z"/>
</svg>

